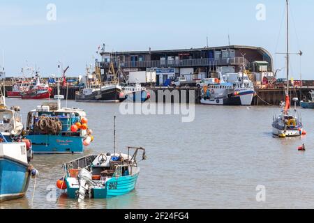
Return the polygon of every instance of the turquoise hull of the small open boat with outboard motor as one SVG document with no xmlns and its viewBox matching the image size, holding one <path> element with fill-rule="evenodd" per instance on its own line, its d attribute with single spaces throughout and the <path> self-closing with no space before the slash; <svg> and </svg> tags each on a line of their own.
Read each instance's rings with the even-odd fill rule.
<svg viewBox="0 0 314 223">
<path fill-rule="evenodd" d="M 107 180 L 104 187 L 93 188 L 92 197 L 94 199 L 106 199 L 110 197 L 117 197 L 120 195 L 128 194 L 135 189 L 136 181 L 138 174 L 130 176 L 120 176 L 118 178 L 112 177 L 110 180 Z M 77 191 L 79 187 L 73 187 L 72 183 L 66 179 L 67 184 L 67 194 L 71 199 L 77 198 Z"/>
</svg>

